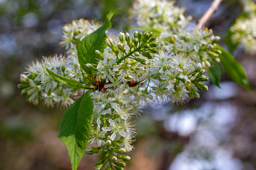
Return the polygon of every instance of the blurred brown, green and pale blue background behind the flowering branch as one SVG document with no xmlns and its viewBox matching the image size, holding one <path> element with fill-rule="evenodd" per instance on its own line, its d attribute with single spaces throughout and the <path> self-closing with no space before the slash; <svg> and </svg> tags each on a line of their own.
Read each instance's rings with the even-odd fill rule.
<svg viewBox="0 0 256 170">
<path fill-rule="evenodd" d="M 198 21 L 211 0 L 180 0 L 186 15 Z M 71 169 L 65 145 L 57 138 L 65 110 L 29 104 L 17 88 L 31 61 L 63 53 L 62 27 L 75 19 L 104 21 L 122 8 L 113 29 L 126 32 L 133 0 L 0 0 L 0 169 Z M 225 0 L 206 26 L 225 36 L 242 11 L 238 0 Z M 256 48 L 256 47 L 255 47 Z M 255 170 L 256 56 L 234 51 L 245 68 L 252 92 L 222 76 L 221 89 L 209 84 L 200 99 L 180 106 L 153 104 L 137 120 L 137 141 L 127 170 Z M 93 169 L 100 154 L 84 155 L 78 169 Z"/>
</svg>

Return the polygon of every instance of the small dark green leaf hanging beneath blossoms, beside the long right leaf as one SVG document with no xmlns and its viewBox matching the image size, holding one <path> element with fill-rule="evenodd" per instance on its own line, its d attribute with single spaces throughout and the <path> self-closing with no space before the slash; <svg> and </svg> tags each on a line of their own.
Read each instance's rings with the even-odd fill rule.
<svg viewBox="0 0 256 170">
<path fill-rule="evenodd" d="M 220 88 L 220 78 L 222 75 L 222 68 L 220 67 L 219 63 L 211 62 L 211 67 L 207 71 L 207 73 L 208 73 L 212 83 Z"/>
</svg>

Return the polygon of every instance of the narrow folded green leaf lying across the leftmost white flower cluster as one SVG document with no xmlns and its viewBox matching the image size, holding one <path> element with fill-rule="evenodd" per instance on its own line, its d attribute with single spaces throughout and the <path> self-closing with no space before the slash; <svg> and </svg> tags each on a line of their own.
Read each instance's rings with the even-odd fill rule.
<svg viewBox="0 0 256 170">
<path fill-rule="evenodd" d="M 54 80 L 56 80 L 62 84 L 68 85 L 69 87 L 76 88 L 76 89 L 91 89 L 88 87 L 84 87 L 80 82 L 78 82 L 76 80 L 72 80 L 72 79 L 66 78 L 64 76 L 58 75 L 58 74 L 52 72 L 51 70 L 49 70 L 48 68 L 46 68 L 46 70 L 54 78 Z"/>
</svg>

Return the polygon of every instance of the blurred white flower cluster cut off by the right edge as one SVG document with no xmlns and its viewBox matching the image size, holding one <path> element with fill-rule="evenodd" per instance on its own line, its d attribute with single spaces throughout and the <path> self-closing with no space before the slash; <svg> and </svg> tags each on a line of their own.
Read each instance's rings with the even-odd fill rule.
<svg viewBox="0 0 256 170">
<path fill-rule="evenodd" d="M 256 3 L 253 1 L 244 2 L 246 18 L 238 18 L 234 25 L 230 27 L 233 33 L 231 40 L 234 44 L 240 44 L 249 54 L 256 54 Z"/>
</svg>

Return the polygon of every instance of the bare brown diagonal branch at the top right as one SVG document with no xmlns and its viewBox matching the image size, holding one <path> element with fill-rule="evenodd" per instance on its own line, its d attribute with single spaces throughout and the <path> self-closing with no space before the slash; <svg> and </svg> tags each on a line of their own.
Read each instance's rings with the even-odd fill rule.
<svg viewBox="0 0 256 170">
<path fill-rule="evenodd" d="M 205 23 L 211 18 L 212 14 L 217 11 L 218 6 L 222 0 L 214 0 L 210 8 L 205 12 L 204 16 L 198 21 L 198 28 L 202 28 Z"/>
</svg>

